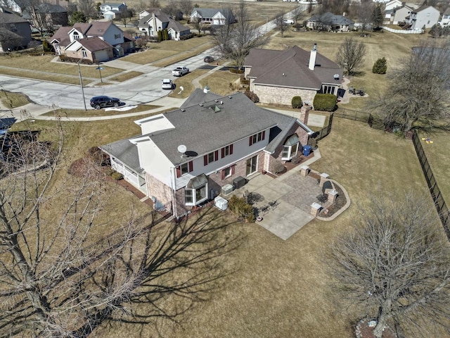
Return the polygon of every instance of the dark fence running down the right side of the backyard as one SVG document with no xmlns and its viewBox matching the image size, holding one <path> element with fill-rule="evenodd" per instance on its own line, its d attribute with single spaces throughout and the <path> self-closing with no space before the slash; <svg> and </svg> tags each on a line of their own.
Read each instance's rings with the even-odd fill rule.
<svg viewBox="0 0 450 338">
<path fill-rule="evenodd" d="M 416 154 L 418 160 L 420 162 L 420 166 L 422 167 L 423 175 L 425 175 L 425 180 L 427 180 L 428 189 L 430 189 L 430 194 L 435 202 L 435 207 L 437 213 L 439 214 L 439 218 L 441 219 L 442 226 L 444 227 L 447 238 L 450 240 L 450 213 L 449 208 L 447 207 L 444 197 L 442 197 L 441 191 L 437 185 L 435 175 L 430 167 L 430 163 L 428 163 L 427 156 L 425 155 L 425 151 L 423 151 L 422 142 L 420 142 L 420 137 L 416 130 L 413 131 L 413 144 L 414 149 L 416 149 Z"/>
</svg>

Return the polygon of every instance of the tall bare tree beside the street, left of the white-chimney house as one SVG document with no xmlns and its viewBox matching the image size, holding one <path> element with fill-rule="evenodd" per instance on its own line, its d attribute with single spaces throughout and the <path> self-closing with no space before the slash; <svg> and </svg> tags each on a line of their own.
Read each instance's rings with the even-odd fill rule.
<svg viewBox="0 0 450 338">
<path fill-rule="evenodd" d="M 233 21 L 227 18 L 226 24 L 217 28 L 212 42 L 221 56 L 229 58 L 238 68 L 242 68 L 250 49 L 264 46 L 269 37 L 263 35 L 255 24 L 250 23 L 250 15 L 243 1 L 240 1 L 234 18 L 236 23 L 231 23 Z"/>
</svg>

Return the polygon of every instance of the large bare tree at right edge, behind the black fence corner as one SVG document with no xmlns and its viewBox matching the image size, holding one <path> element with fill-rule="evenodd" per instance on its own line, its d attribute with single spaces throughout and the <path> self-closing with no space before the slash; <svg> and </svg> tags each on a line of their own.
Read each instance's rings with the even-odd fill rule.
<svg viewBox="0 0 450 338">
<path fill-rule="evenodd" d="M 450 44 L 425 42 L 392 70 L 389 87 L 371 103 L 386 127 L 450 130 Z"/>
</svg>

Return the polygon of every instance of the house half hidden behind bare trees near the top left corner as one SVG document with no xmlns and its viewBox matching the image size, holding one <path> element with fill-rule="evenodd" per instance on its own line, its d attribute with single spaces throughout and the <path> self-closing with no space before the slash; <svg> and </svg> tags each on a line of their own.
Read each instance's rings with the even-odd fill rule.
<svg viewBox="0 0 450 338">
<path fill-rule="evenodd" d="M 28 20 L 35 29 L 43 26 L 46 30 L 57 30 L 59 27 L 68 25 L 68 10 L 60 5 L 53 4 L 39 4 L 34 8 L 35 14 L 32 14 L 32 9 L 25 9 L 22 12 L 22 17 Z"/>
</svg>

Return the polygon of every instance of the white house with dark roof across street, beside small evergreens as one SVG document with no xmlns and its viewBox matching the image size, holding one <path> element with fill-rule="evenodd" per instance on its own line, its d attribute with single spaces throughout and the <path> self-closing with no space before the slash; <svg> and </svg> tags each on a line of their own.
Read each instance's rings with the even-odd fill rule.
<svg viewBox="0 0 450 338">
<path fill-rule="evenodd" d="M 142 12 L 141 12 L 142 13 Z M 145 32 L 149 37 L 158 37 L 159 30 L 165 30 L 169 33 L 169 39 L 179 40 L 183 35 L 188 35 L 191 29 L 188 26 L 181 25 L 178 21 L 169 15 L 156 9 L 139 20 L 138 29 Z"/>
</svg>

